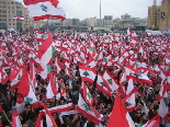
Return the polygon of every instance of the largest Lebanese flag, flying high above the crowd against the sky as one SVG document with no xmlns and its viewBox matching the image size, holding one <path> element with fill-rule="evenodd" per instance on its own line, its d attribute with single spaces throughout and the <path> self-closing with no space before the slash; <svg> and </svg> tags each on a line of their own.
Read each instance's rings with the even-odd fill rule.
<svg viewBox="0 0 170 127">
<path fill-rule="evenodd" d="M 55 0 L 24 0 L 34 21 L 45 20 L 48 18 L 56 18 L 64 21 L 66 13 L 60 7 L 60 3 L 54 5 Z M 58 0 L 57 0 L 58 1 Z"/>
</svg>

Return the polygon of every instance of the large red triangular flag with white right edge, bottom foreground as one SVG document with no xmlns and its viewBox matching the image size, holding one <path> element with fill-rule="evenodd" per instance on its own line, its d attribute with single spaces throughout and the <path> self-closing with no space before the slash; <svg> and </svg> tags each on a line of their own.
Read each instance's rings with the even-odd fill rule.
<svg viewBox="0 0 170 127">
<path fill-rule="evenodd" d="M 110 115 L 107 127 L 135 127 L 133 119 L 126 111 L 118 93 L 116 94 L 113 111 Z"/>
</svg>

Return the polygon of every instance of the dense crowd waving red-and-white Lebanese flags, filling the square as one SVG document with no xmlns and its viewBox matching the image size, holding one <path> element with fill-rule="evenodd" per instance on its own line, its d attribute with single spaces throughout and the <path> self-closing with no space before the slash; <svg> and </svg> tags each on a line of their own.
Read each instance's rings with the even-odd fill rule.
<svg viewBox="0 0 170 127">
<path fill-rule="evenodd" d="M 45 56 L 41 46 L 50 34 L 55 55 L 43 59 L 44 68 L 38 54 Z M 166 36 L 34 30 L 0 39 L 2 127 L 21 127 L 13 126 L 15 112 L 22 127 L 49 127 L 54 120 L 54 127 L 111 127 L 120 118 L 111 119 L 117 95 L 135 127 L 152 119 L 159 124 L 146 127 L 170 127 L 170 39 Z M 89 105 L 84 111 L 81 99 Z"/>
</svg>

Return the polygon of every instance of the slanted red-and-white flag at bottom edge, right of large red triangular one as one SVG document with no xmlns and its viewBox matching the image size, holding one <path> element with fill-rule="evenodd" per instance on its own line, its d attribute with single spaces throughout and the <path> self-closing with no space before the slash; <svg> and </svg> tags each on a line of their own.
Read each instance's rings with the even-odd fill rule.
<svg viewBox="0 0 170 127">
<path fill-rule="evenodd" d="M 152 119 L 147 122 L 145 125 L 141 125 L 139 127 L 158 127 L 160 124 L 160 116 L 155 116 Z"/>
</svg>

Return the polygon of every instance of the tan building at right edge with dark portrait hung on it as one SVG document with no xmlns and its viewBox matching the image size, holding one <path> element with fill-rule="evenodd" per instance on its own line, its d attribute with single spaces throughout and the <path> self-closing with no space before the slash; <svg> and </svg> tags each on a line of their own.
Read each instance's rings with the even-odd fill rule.
<svg viewBox="0 0 170 127">
<path fill-rule="evenodd" d="M 170 28 L 170 0 L 162 0 L 159 30 Z"/>
</svg>

